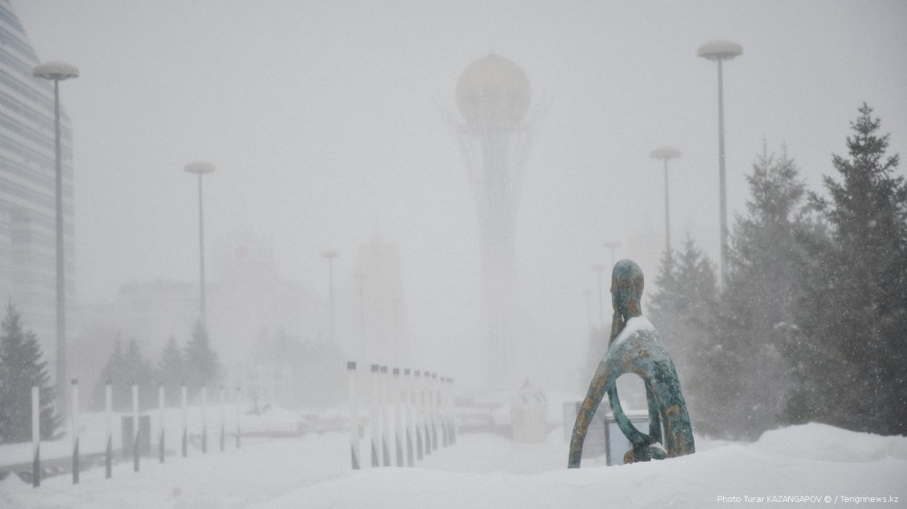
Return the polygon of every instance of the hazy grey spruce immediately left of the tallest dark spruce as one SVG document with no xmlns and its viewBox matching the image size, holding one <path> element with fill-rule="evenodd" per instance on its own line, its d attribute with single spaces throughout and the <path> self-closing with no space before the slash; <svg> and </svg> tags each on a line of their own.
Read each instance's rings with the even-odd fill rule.
<svg viewBox="0 0 907 509">
<path fill-rule="evenodd" d="M 795 302 L 802 291 L 806 254 L 798 238 L 811 226 L 806 186 L 786 148 L 762 153 L 746 176 L 746 215 L 731 237 L 727 283 L 717 313 L 717 344 L 729 371 L 727 422 L 737 437 L 756 438 L 785 423 L 786 399 L 795 378 L 784 358 L 788 331 L 795 330 Z"/>
</svg>

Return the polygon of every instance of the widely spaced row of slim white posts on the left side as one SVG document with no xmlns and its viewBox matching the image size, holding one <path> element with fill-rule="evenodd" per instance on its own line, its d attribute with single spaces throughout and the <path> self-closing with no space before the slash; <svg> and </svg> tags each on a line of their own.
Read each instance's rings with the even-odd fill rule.
<svg viewBox="0 0 907 509">
<path fill-rule="evenodd" d="M 237 389 L 239 392 L 239 388 Z M 38 487 L 41 485 L 41 401 L 38 386 L 32 387 L 32 485 Z M 110 380 L 104 388 L 104 399 L 106 408 L 106 428 L 107 428 L 107 447 L 104 451 L 104 465 L 107 478 L 112 475 L 113 462 L 113 398 L 112 386 Z M 180 394 L 182 404 L 182 456 L 189 454 L 189 424 L 188 424 L 188 398 L 186 384 L 182 385 Z M 79 382 L 73 379 L 72 397 L 70 399 L 70 435 L 73 438 L 73 484 L 79 483 Z M 239 449 L 239 438 L 242 431 L 239 427 L 239 399 L 234 405 L 236 409 L 236 448 Z M 158 433 L 158 456 L 161 463 L 164 462 L 165 456 L 165 433 L 164 433 L 164 386 L 161 384 L 158 388 L 158 408 L 160 412 L 160 429 Z M 208 389 L 201 388 L 201 452 L 208 451 Z M 227 437 L 226 427 L 226 408 L 224 399 L 224 388 L 220 386 L 220 450 L 223 451 Z M 139 471 L 139 457 L 141 456 L 139 444 L 139 386 L 132 385 L 132 437 L 122 437 L 122 443 L 125 445 L 126 440 L 132 440 L 132 469 Z"/>
</svg>

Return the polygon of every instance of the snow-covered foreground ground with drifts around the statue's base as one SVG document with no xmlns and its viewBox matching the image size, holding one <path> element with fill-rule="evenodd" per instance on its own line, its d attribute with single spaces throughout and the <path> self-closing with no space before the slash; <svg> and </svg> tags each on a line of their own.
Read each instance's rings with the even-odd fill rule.
<svg viewBox="0 0 907 509">
<path fill-rule="evenodd" d="M 249 438 L 164 464 L 144 459 L 45 479 L 9 475 L 2 507 L 702 507 L 725 504 L 907 505 L 907 437 L 821 424 L 767 432 L 752 444 L 697 440 L 697 453 L 568 470 L 562 429 L 545 443 L 462 434 L 414 468 L 349 466 L 349 436 Z M 366 455 L 367 462 L 367 455 Z M 590 463 L 596 463 L 591 465 Z M 722 498 L 725 497 L 725 498 Z M 748 498 L 747 498 L 748 497 Z M 866 497 L 875 497 L 870 499 Z"/>
</svg>

